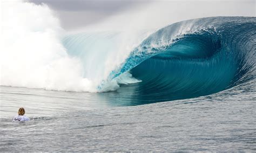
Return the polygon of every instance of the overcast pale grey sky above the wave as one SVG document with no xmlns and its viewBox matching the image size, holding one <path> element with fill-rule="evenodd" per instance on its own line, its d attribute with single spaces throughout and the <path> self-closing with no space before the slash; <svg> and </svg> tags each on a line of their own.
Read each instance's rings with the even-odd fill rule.
<svg viewBox="0 0 256 153">
<path fill-rule="evenodd" d="M 254 16 L 255 0 L 242 1 L 142 1 L 142 0 L 28 0 L 46 4 L 60 19 L 65 30 L 97 27 L 120 29 L 157 28 L 185 19 L 211 16 Z M 130 22 L 127 22 L 130 21 Z M 138 25 L 137 25 L 138 24 Z"/>
</svg>

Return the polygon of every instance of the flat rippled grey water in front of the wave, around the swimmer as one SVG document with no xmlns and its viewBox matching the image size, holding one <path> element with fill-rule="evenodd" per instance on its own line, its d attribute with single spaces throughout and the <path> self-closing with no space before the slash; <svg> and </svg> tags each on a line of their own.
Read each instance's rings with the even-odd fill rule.
<svg viewBox="0 0 256 153">
<path fill-rule="evenodd" d="M 109 96 L 1 87 L 1 151 L 252 151 L 256 90 L 109 107 Z M 104 99 L 104 97 L 106 99 Z M 18 107 L 28 122 L 11 122 Z"/>
</svg>

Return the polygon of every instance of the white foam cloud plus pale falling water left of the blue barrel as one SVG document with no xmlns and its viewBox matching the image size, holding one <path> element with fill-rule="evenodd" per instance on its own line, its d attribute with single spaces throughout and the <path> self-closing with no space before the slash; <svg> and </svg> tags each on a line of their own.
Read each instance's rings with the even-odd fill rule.
<svg viewBox="0 0 256 153">
<path fill-rule="evenodd" d="M 104 92 L 116 90 L 118 80 L 129 82 L 110 80 L 97 88 L 146 37 L 145 32 L 140 37 L 127 31 L 69 34 L 65 39 L 85 35 L 90 39 L 63 46 L 66 31 L 47 5 L 17 1 L 4 2 L 2 8 L 1 86 Z"/>
</svg>

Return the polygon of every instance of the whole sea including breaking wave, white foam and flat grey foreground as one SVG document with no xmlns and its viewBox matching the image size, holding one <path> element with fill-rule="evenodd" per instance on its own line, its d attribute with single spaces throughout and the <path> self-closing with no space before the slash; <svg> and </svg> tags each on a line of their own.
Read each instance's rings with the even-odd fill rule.
<svg viewBox="0 0 256 153">
<path fill-rule="evenodd" d="M 255 151 L 255 17 L 124 29 L 3 3 L 1 150 Z"/>
</svg>

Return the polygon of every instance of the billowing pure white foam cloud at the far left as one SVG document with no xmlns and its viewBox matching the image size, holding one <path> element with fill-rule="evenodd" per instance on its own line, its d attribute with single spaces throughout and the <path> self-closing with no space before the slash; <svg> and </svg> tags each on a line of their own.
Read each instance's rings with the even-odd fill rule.
<svg viewBox="0 0 256 153">
<path fill-rule="evenodd" d="M 82 66 L 62 45 L 63 29 L 46 5 L 2 3 L 1 86 L 90 91 Z"/>
</svg>

